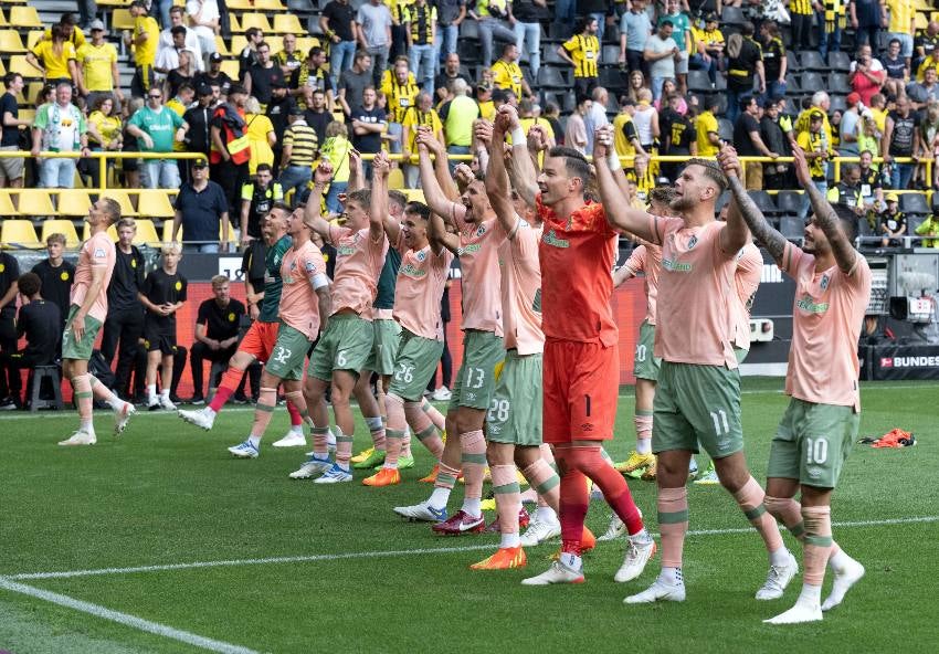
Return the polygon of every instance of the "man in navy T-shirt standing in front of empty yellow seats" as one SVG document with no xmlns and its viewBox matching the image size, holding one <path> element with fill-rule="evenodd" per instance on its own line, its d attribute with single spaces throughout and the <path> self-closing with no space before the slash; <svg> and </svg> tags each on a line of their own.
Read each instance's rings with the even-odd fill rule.
<svg viewBox="0 0 939 654">
<path fill-rule="evenodd" d="M 221 186 L 209 180 L 209 162 L 205 159 L 193 159 L 190 173 L 192 181 L 179 187 L 176 197 L 172 240 L 179 241 L 181 228 L 187 252 L 217 253 L 221 232 L 222 250 L 225 250 L 230 240 L 225 193 Z"/>
</svg>

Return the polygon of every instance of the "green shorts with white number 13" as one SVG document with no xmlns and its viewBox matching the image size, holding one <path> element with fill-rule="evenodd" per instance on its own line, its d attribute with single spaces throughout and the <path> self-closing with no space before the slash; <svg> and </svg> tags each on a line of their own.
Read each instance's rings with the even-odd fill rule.
<svg viewBox="0 0 939 654">
<path fill-rule="evenodd" d="M 463 365 L 453 380 L 447 411 L 457 407 L 486 410 L 496 390 L 496 366 L 505 358 L 505 341 L 492 331 L 463 333 Z"/>
</svg>

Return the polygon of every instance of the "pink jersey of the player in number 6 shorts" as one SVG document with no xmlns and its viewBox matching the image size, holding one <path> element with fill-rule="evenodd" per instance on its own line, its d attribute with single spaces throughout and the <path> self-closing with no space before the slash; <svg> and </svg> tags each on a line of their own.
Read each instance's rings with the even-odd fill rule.
<svg viewBox="0 0 939 654">
<path fill-rule="evenodd" d="M 333 272 L 333 313 L 352 309 L 359 317 L 371 320 L 371 303 L 378 293 L 378 276 L 388 254 L 388 238 L 372 241 L 368 228 L 354 232 L 348 228 L 329 226 L 326 241 L 336 249 Z"/>
</svg>

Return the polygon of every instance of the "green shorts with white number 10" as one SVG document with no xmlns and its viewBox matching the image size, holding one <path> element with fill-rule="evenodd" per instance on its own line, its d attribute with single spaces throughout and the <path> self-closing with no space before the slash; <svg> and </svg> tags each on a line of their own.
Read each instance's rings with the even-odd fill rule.
<svg viewBox="0 0 939 654">
<path fill-rule="evenodd" d="M 834 488 L 859 424 L 861 414 L 852 407 L 792 398 L 770 446 L 767 477 Z"/>
</svg>

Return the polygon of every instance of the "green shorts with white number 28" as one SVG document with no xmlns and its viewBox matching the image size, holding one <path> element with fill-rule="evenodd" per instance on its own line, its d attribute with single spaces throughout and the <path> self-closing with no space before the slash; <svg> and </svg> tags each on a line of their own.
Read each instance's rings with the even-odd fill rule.
<svg viewBox="0 0 939 654">
<path fill-rule="evenodd" d="M 486 414 L 486 439 L 534 447 L 541 444 L 540 352 L 519 356 L 518 350 L 511 349 L 505 354 Z"/>
</svg>

